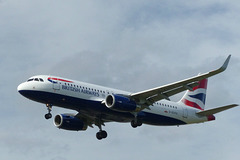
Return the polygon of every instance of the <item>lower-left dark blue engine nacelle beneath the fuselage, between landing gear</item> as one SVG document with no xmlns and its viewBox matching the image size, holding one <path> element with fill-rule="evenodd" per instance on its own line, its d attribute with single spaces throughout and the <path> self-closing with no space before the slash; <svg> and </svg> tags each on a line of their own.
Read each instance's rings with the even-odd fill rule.
<svg viewBox="0 0 240 160">
<path fill-rule="evenodd" d="M 85 131 L 87 124 L 74 115 L 59 114 L 54 118 L 54 125 L 60 129 L 66 129 L 71 131 Z"/>
</svg>

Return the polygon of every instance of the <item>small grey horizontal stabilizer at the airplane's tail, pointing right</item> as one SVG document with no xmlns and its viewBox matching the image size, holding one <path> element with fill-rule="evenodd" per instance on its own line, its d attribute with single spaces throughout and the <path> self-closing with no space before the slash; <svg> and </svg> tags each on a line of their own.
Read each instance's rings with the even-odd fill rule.
<svg viewBox="0 0 240 160">
<path fill-rule="evenodd" d="M 213 108 L 213 109 L 209 109 L 209 110 L 204 110 L 204 111 L 199 111 L 196 114 L 200 115 L 200 116 L 210 116 L 222 111 L 225 111 L 227 109 L 231 109 L 233 107 L 237 107 L 237 104 L 232 104 L 232 105 L 227 105 L 227 106 L 223 106 L 223 107 L 219 107 L 219 108 Z"/>
</svg>

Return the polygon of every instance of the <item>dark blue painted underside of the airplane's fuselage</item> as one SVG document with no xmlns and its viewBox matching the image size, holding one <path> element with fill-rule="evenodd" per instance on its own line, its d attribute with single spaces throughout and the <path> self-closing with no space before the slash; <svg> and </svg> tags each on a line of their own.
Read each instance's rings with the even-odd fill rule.
<svg viewBox="0 0 240 160">
<path fill-rule="evenodd" d="M 116 122 L 130 122 L 134 119 L 131 113 L 117 112 L 107 108 L 99 101 L 90 101 L 80 98 L 60 95 L 57 93 L 41 92 L 41 91 L 19 91 L 23 96 L 44 104 L 52 104 L 53 106 L 59 106 L 62 108 L 72 109 L 78 111 L 80 114 L 90 117 L 101 117 L 104 121 L 116 121 Z M 151 125 L 183 125 L 186 124 L 183 121 L 141 111 L 138 113 L 138 118 L 145 124 Z"/>
</svg>

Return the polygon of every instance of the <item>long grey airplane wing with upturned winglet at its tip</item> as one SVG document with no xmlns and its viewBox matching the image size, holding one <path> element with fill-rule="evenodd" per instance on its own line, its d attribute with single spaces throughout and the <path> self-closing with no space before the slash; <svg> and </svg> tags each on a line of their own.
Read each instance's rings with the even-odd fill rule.
<svg viewBox="0 0 240 160">
<path fill-rule="evenodd" d="M 193 87 L 198 85 L 199 81 L 225 71 L 228 66 L 230 58 L 231 58 L 231 55 L 229 55 L 227 57 L 224 64 L 217 70 L 213 70 L 213 71 L 210 71 L 210 72 L 207 72 L 204 74 L 200 74 L 198 76 L 194 76 L 194 77 L 191 77 L 188 79 L 184 79 L 182 81 L 167 84 L 167 85 L 160 86 L 157 88 L 133 93 L 130 95 L 130 98 L 135 100 L 137 103 L 139 103 L 141 105 L 146 105 L 146 106 L 152 105 L 153 103 L 155 103 L 161 99 L 169 100 L 170 96 L 180 93 L 187 89 L 192 90 Z"/>
</svg>

